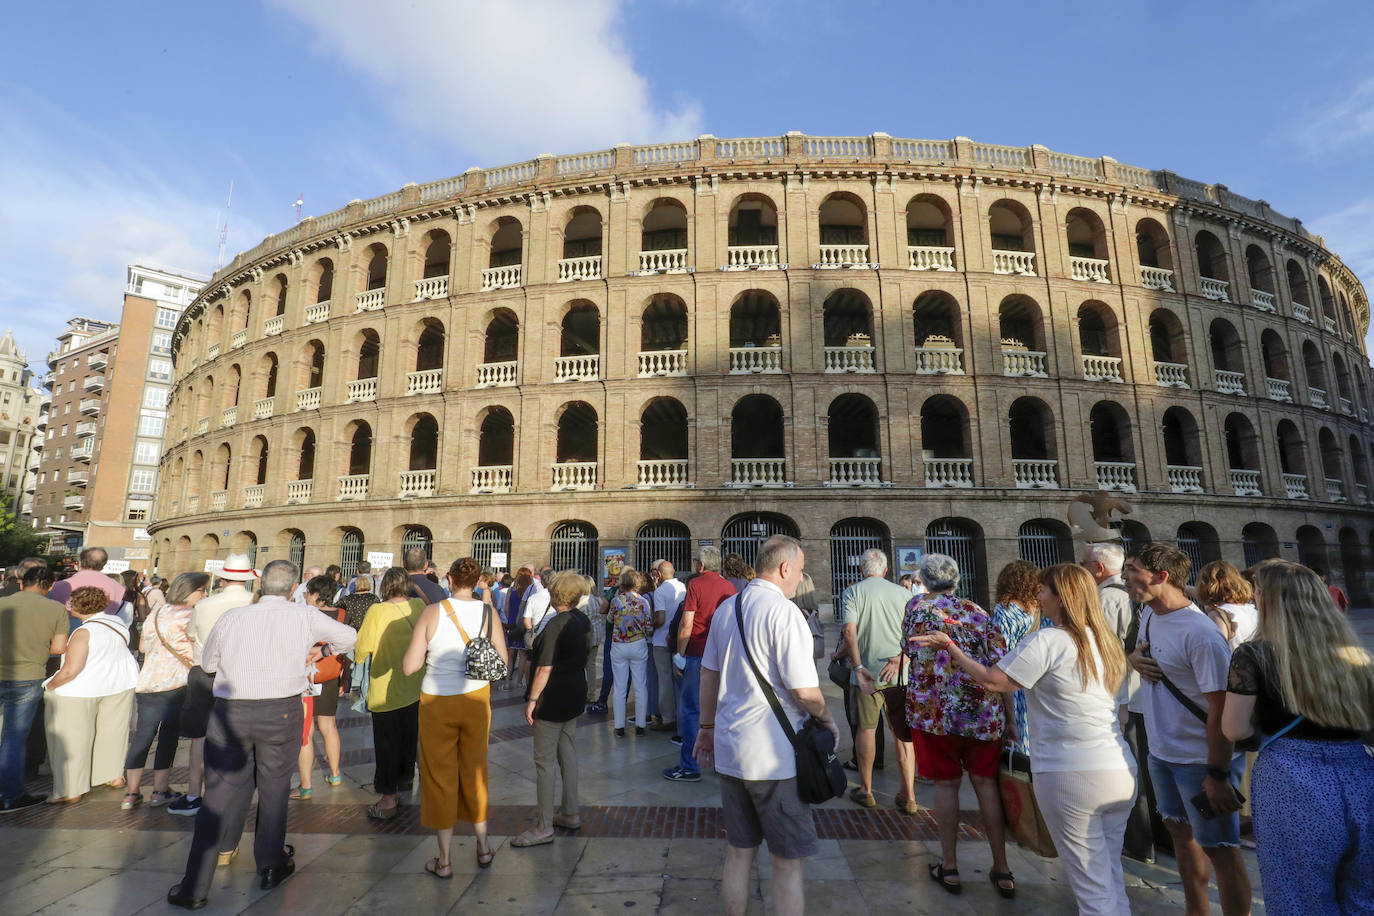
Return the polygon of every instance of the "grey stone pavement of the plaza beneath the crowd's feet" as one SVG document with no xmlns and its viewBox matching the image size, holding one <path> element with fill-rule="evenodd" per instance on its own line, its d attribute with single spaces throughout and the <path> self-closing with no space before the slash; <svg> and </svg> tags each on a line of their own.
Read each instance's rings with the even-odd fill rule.
<svg viewBox="0 0 1374 916">
<path fill-rule="evenodd" d="M 1360 615 L 1362 634 L 1374 641 L 1374 612 Z M 827 644 L 837 630 L 827 628 Z M 833 711 L 844 720 L 840 691 L 824 676 Z M 251 843 L 245 854 L 216 873 L 206 913 L 713 913 L 720 912 L 724 834 L 717 818 L 714 776 L 676 784 L 660 773 L 676 762 L 666 733 L 617 739 L 605 715 L 587 715 L 577 733 L 585 827 L 561 831 L 551 846 L 514 849 L 507 838 L 528 824 L 534 801 L 529 726 L 514 691 L 493 689 L 491 759 L 491 829 L 496 860 L 480 871 L 471 838 L 456 838 L 453 879 L 423 872 L 434 842 L 418 824 L 418 810 L 389 823 L 363 813 L 375 801 L 372 735 L 364 717 L 341 706 L 344 786 L 330 788 L 317 769 L 315 798 L 291 802 L 289 840 L 297 872 L 273 891 L 257 887 Z M 845 737 L 848 743 L 848 737 Z M 319 739 L 316 739 L 316 747 Z M 184 755 L 184 748 L 183 748 Z M 1043 860 L 1010 843 L 1017 900 L 996 895 L 987 879 L 991 865 L 980 831 L 977 803 L 965 786 L 959 867 L 960 897 L 936 887 L 926 865 L 938 858 L 929 810 L 915 817 L 892 808 L 896 762 L 875 773 L 879 808 L 863 810 L 835 799 L 816 809 L 820 854 L 807 864 L 809 912 L 988 913 L 1074 912 L 1073 895 L 1057 860 Z M 184 757 L 183 757 L 184 761 Z M 179 761 L 183 762 L 183 761 Z M 184 770 L 173 784 L 184 786 Z M 34 786 L 45 791 L 45 786 Z M 144 786 L 144 792 L 148 786 Z M 0 820 L 0 916 L 70 913 L 125 916 L 181 912 L 164 901 L 180 878 L 191 818 L 165 809 L 120 812 L 121 792 L 99 788 L 78 805 L 25 812 Z M 916 787 L 916 801 L 930 803 L 930 787 Z M 251 829 L 251 820 L 249 824 Z M 1263 913 L 1254 854 L 1246 853 L 1254 884 L 1256 913 Z M 1169 858 L 1157 865 L 1127 860 L 1127 883 L 1136 913 L 1180 913 L 1183 895 Z M 756 869 L 750 912 L 765 912 L 769 897 L 767 856 Z M 1213 887 L 1213 901 L 1216 891 Z M 1220 912 L 1219 905 L 1213 912 Z"/>
</svg>

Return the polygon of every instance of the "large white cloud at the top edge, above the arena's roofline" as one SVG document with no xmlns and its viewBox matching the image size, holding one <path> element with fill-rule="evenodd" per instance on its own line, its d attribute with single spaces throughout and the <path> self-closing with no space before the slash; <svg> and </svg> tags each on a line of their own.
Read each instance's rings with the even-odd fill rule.
<svg viewBox="0 0 1374 916">
<path fill-rule="evenodd" d="M 320 52 L 368 74 L 398 121 L 480 165 L 701 132 L 695 104 L 668 110 L 651 98 L 617 0 L 275 3 L 315 33 Z M 672 45 L 665 36 L 651 51 L 682 66 Z"/>
</svg>

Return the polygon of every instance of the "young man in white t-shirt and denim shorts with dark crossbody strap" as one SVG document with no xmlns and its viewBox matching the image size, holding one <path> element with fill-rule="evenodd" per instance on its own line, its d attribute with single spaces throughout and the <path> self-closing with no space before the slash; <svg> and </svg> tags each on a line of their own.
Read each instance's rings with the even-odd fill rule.
<svg viewBox="0 0 1374 916">
<path fill-rule="evenodd" d="M 1221 732 L 1231 647 L 1184 595 L 1190 571 L 1187 553 L 1172 544 L 1147 544 L 1127 560 L 1125 586 L 1132 600 L 1146 604 L 1129 661 L 1143 680 L 1150 781 L 1173 839 L 1187 912 L 1206 912 L 1210 861 L 1221 912 L 1239 916 L 1250 912 L 1235 791 L 1245 755 L 1235 754 Z M 1194 799 L 1206 805 L 1210 817 Z"/>
</svg>

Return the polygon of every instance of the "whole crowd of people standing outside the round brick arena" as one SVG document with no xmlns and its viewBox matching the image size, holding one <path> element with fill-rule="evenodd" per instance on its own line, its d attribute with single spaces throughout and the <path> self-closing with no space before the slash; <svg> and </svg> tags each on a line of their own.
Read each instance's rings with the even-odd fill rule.
<svg viewBox="0 0 1374 916">
<path fill-rule="evenodd" d="M 1120 544 L 1090 544 L 1074 564 L 1010 563 L 987 611 L 949 556 L 925 555 L 900 584 L 883 552 L 859 559 L 861 580 L 835 597 L 841 630 L 829 654 L 857 776 L 849 799 L 878 805 L 874 769 L 890 732 L 896 809 L 915 814 L 918 786 L 930 786 L 941 853 L 929 872 L 943 890 L 963 891 L 967 775 L 988 879 L 1015 897 L 999 775 L 1020 770 L 1080 913 L 1129 912 L 1121 858 L 1156 854 L 1175 858 L 1189 913 L 1208 912 L 1213 876 L 1223 913 L 1248 913 L 1243 812 L 1270 912 L 1374 911 L 1374 661 L 1312 570 L 1213 562 L 1194 577 L 1171 544 L 1129 558 Z M 206 904 L 216 867 L 238 854 L 254 790 L 262 887 L 293 873 L 286 814 L 315 791 L 313 731 L 326 784 L 339 786 L 335 717 L 354 696 L 374 737 L 367 816 L 397 817 L 418 770 L 420 823 L 437 839 L 425 871 L 452 878 L 459 824 L 489 867 L 495 687 L 522 691 L 533 733 L 536 806 L 513 847 L 581 827 L 577 726 L 610 711 L 616 739 L 631 728 L 672 733 L 680 751 L 665 780 L 714 769 L 725 911 L 745 912 L 764 840 L 775 909 L 802 909 L 816 831 L 778 717 L 797 731 L 812 720 L 837 743 L 840 728 L 819 687 L 827 647 L 793 538 L 765 541 L 754 567 L 702 547 L 688 575 L 666 560 L 625 569 L 606 592 L 573 570 L 500 575 L 473 558 L 440 575 L 422 548 L 403 567 L 360 564 L 348 580 L 287 560 L 260 571 L 245 555 L 227 558 L 214 582 L 206 573 L 139 581 L 104 564 L 104 551 L 88 548 L 80 570 L 54 582 L 44 562 L 26 560 L 0 591 L 0 812 L 70 805 L 109 786 L 124 790 L 125 810 L 195 816 L 170 904 Z M 184 792 L 170 784 L 181 739 Z M 44 759 L 48 799 L 26 787 L 26 769 Z"/>
</svg>

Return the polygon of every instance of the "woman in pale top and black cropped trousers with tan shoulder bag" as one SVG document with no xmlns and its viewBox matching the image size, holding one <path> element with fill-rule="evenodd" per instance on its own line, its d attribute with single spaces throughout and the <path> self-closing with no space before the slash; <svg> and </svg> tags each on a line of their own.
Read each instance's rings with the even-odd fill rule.
<svg viewBox="0 0 1374 916">
<path fill-rule="evenodd" d="M 148 762 L 153 739 L 158 751 L 153 758 L 153 806 L 169 805 L 181 797 L 172 791 L 172 762 L 181 728 L 181 706 L 185 703 L 185 683 L 191 672 L 191 610 L 205 597 L 210 577 L 205 573 L 181 573 L 168 589 L 166 603 L 148 615 L 143 625 L 139 648 L 143 669 L 133 688 L 137 725 L 129 739 L 129 753 L 124 758 L 126 790 L 120 810 L 132 810 L 143 803 L 143 768 Z"/>
</svg>

